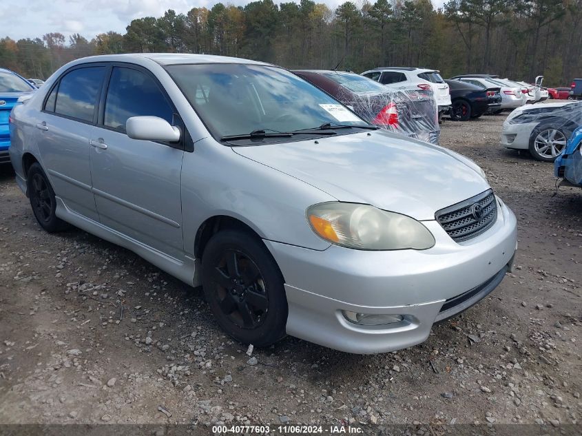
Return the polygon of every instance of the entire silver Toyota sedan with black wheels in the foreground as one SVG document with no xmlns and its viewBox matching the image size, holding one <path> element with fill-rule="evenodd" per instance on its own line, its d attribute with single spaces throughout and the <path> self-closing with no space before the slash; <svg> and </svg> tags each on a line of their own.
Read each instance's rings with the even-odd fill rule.
<svg viewBox="0 0 582 436">
<path fill-rule="evenodd" d="M 418 344 L 495 289 L 517 246 L 471 160 L 266 63 L 80 59 L 14 108 L 11 131 L 41 227 L 72 224 L 201 284 L 222 329 L 255 346 Z"/>
</svg>

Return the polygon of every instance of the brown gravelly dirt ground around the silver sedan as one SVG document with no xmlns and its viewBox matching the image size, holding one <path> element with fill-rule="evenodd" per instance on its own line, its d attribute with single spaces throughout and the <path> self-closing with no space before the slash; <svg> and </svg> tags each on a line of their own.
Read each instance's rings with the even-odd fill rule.
<svg viewBox="0 0 582 436">
<path fill-rule="evenodd" d="M 441 143 L 515 211 L 515 271 L 384 355 L 287 338 L 249 360 L 200 289 L 83 231 L 44 233 L 1 168 L 0 422 L 579 423 L 582 191 L 552 196 L 551 164 L 498 146 L 503 119 L 446 120 Z"/>
</svg>

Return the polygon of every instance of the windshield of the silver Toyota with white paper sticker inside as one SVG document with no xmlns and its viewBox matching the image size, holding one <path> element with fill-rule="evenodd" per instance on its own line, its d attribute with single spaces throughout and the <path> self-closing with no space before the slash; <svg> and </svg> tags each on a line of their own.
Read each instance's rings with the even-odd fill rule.
<svg viewBox="0 0 582 436">
<path fill-rule="evenodd" d="M 169 65 L 167 72 L 216 138 L 317 129 L 324 123 L 368 125 L 282 68 L 210 63 Z"/>
</svg>

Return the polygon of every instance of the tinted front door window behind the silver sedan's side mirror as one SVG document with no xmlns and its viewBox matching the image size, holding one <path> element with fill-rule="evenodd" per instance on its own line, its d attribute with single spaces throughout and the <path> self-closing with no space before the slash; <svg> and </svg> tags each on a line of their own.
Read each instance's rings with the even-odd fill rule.
<svg viewBox="0 0 582 436">
<path fill-rule="evenodd" d="M 205 101 L 207 88 L 196 90 L 197 101 Z M 103 124 L 125 133 L 132 116 L 158 116 L 172 124 L 174 110 L 151 76 L 133 68 L 115 67 L 111 74 Z"/>
</svg>

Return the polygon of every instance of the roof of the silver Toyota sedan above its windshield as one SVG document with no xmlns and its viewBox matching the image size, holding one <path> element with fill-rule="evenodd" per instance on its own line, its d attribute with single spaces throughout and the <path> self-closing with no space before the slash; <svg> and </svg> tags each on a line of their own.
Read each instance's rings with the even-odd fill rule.
<svg viewBox="0 0 582 436">
<path fill-rule="evenodd" d="M 245 63 L 252 65 L 271 65 L 269 63 L 251 61 L 229 56 L 215 56 L 212 54 L 187 54 L 187 53 L 130 53 L 130 54 L 102 54 L 78 59 L 76 62 L 124 62 L 136 59 L 150 59 L 160 65 L 179 65 L 192 63 Z"/>
</svg>

